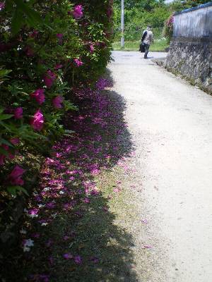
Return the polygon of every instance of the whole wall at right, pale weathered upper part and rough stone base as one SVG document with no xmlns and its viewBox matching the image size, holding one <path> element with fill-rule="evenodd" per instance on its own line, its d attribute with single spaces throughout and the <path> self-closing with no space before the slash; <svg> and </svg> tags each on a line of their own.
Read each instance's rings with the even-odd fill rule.
<svg viewBox="0 0 212 282">
<path fill-rule="evenodd" d="M 212 2 L 175 14 L 164 66 L 212 94 Z"/>
</svg>

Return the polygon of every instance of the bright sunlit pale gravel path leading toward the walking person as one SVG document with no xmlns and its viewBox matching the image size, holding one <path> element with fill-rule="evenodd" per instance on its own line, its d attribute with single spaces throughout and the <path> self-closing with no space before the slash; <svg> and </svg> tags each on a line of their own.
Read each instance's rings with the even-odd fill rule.
<svg viewBox="0 0 212 282">
<path fill-rule="evenodd" d="M 136 195 L 138 212 L 150 222 L 153 244 L 146 266 L 153 275 L 142 278 L 137 265 L 139 282 L 210 282 L 212 97 L 139 52 L 114 51 L 113 56 L 114 90 L 126 99 L 136 147 L 134 182 L 143 188 Z M 158 269 L 152 269 L 153 260 Z"/>
</svg>

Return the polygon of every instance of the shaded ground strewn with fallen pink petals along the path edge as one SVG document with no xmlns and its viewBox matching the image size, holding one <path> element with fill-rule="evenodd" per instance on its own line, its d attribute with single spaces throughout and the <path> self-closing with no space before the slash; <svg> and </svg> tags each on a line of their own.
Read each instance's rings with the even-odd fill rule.
<svg viewBox="0 0 212 282">
<path fill-rule="evenodd" d="M 25 220 L 23 239 L 30 236 L 35 246 L 16 265 L 16 278 L 8 272 L 6 281 L 138 281 L 131 234 L 110 212 L 114 183 L 100 188 L 95 181 L 133 149 L 124 99 L 112 88 L 81 90 L 76 97 L 78 116 L 64 121 L 75 133 L 54 146 L 30 202 L 34 210 L 45 207 Z"/>
</svg>

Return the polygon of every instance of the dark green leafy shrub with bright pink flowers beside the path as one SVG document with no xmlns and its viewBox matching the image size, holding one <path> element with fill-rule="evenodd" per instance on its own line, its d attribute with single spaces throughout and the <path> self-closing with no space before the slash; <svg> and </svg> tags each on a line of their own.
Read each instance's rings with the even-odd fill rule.
<svg viewBox="0 0 212 282">
<path fill-rule="evenodd" d="M 23 190 L 17 155 L 47 154 L 68 133 L 61 119 L 77 110 L 74 90 L 92 87 L 110 59 L 111 6 L 110 0 L 0 2 L 1 190 Z"/>
</svg>

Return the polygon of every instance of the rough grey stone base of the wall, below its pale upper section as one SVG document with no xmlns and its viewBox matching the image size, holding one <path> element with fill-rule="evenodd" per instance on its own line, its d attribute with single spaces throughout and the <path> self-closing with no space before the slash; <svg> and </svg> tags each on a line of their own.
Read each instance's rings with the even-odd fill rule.
<svg viewBox="0 0 212 282">
<path fill-rule="evenodd" d="M 172 38 L 164 66 L 212 94 L 212 39 Z"/>
</svg>

